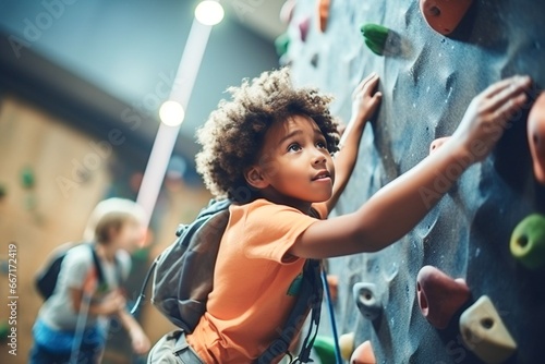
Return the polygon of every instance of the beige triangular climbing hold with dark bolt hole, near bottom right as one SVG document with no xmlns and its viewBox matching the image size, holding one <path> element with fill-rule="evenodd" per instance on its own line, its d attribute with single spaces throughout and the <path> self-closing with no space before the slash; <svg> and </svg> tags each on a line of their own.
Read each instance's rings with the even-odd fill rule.
<svg viewBox="0 0 545 364">
<path fill-rule="evenodd" d="M 502 363 L 517 350 L 517 343 L 486 295 L 462 314 L 460 332 L 468 349 L 485 363 Z"/>
</svg>

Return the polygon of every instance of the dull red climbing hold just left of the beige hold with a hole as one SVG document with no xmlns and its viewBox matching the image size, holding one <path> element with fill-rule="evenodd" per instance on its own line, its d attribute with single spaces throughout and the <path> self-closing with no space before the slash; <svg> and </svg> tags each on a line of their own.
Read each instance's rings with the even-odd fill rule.
<svg viewBox="0 0 545 364">
<path fill-rule="evenodd" d="M 416 281 L 420 311 L 438 329 L 446 328 L 452 315 L 470 298 L 463 279 L 452 279 L 432 266 L 422 267 Z"/>
</svg>

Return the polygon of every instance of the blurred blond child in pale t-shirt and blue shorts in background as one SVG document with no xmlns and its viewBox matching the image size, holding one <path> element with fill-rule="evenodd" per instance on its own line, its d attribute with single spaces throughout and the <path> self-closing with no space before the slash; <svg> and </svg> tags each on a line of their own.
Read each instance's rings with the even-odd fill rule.
<svg viewBox="0 0 545 364">
<path fill-rule="evenodd" d="M 125 248 L 136 247 L 144 238 L 143 214 L 142 208 L 129 199 L 110 198 L 96 206 L 85 239 L 93 242 L 106 284 L 98 287 L 88 244 L 68 251 L 55 292 L 41 306 L 34 325 L 29 363 L 69 363 L 73 349 L 78 351 L 77 356 L 72 357 L 76 363 L 99 363 L 113 316 L 128 330 L 137 354 L 149 350 L 149 340 L 126 312 L 119 287 L 120 280 L 124 280 L 131 270 L 131 257 Z M 90 296 L 87 310 L 84 304 L 86 294 Z M 76 327 L 82 317 L 86 320 L 78 332 Z M 81 344 L 78 335 L 82 336 Z"/>
</svg>

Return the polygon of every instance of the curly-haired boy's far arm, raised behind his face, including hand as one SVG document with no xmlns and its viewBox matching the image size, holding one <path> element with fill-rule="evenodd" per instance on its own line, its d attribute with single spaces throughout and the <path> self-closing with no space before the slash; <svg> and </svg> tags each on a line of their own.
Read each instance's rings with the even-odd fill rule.
<svg viewBox="0 0 545 364">
<path fill-rule="evenodd" d="M 347 186 L 358 159 L 363 130 L 380 104 L 383 94 L 376 92 L 377 85 L 378 75 L 372 73 L 358 85 L 352 94 L 352 117 L 341 138 L 340 150 L 335 155 L 334 191 L 331 197 L 323 203 L 325 204 L 327 214 L 334 209 L 339 196 Z"/>
</svg>

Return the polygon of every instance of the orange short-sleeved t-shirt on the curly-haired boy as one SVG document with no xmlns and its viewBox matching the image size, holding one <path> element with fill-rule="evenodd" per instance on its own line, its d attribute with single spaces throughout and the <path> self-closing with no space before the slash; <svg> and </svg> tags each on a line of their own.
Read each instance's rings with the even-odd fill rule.
<svg viewBox="0 0 545 364">
<path fill-rule="evenodd" d="M 266 199 L 230 207 L 206 313 L 187 342 L 207 364 L 251 363 L 279 337 L 305 259 L 287 259 L 317 219 Z M 289 258 L 289 257 L 288 257 Z"/>
</svg>

